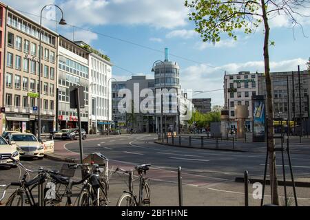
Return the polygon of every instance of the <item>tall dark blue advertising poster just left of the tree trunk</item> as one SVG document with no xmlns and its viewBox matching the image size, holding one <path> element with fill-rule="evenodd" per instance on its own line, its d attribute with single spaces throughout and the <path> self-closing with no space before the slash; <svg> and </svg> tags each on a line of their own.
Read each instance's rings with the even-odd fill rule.
<svg viewBox="0 0 310 220">
<path fill-rule="evenodd" d="M 253 98 L 253 142 L 265 141 L 265 99 L 263 96 Z"/>
</svg>

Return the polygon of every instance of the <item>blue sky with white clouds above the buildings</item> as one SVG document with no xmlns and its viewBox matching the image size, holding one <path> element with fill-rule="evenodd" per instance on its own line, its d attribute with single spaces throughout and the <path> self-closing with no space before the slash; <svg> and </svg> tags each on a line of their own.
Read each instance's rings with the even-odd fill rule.
<svg viewBox="0 0 310 220">
<path fill-rule="evenodd" d="M 194 98 L 211 98 L 212 105 L 223 105 L 223 76 L 240 71 L 263 72 L 264 34 L 262 26 L 254 34 L 237 31 L 238 40 L 223 35 L 220 43 L 203 43 L 188 19 L 184 0 L 1 0 L 26 16 L 39 21 L 41 8 L 56 3 L 63 10 L 68 25 L 59 20 L 61 12 L 43 11 L 43 25 L 74 41 L 85 41 L 111 58 L 112 75 L 127 80 L 133 75 L 154 78 L 154 61 L 169 60 L 180 66 L 180 83 L 184 89 L 209 91 Z M 305 10 L 305 9 L 304 9 Z M 51 15 L 52 14 L 52 15 Z M 271 19 L 269 47 L 271 72 L 306 69 L 310 57 L 310 19 L 297 17 L 302 24 L 292 29 L 283 15 Z"/>
</svg>

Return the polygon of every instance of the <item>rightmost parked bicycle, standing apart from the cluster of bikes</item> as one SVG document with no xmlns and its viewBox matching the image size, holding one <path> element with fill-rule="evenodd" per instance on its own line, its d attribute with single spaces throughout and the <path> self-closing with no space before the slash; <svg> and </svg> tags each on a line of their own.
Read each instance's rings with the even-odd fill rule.
<svg viewBox="0 0 310 220">
<path fill-rule="evenodd" d="M 151 165 L 152 164 L 142 164 L 135 166 L 135 170 L 138 171 L 138 179 L 139 179 L 138 196 L 134 194 L 134 170 L 123 170 L 121 168 L 116 168 L 115 172 L 121 170 L 123 171 L 123 173 L 129 173 L 129 185 L 128 185 L 129 190 L 123 192 L 123 195 L 119 197 L 116 206 L 150 206 L 151 204 L 151 198 L 149 194 L 150 181 L 147 177 L 143 177 L 143 173 L 146 175 L 146 171 L 149 170 L 149 166 Z"/>
</svg>

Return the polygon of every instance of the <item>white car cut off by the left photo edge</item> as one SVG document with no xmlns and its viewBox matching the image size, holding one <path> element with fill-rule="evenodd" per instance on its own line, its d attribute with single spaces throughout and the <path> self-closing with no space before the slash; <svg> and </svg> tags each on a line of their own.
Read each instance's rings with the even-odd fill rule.
<svg viewBox="0 0 310 220">
<path fill-rule="evenodd" d="M 0 137 L 0 166 L 12 166 L 12 159 L 10 157 L 19 161 L 19 152 L 17 147 L 12 144 L 8 144 L 3 137 Z M 16 167 L 16 166 L 15 166 Z"/>
</svg>

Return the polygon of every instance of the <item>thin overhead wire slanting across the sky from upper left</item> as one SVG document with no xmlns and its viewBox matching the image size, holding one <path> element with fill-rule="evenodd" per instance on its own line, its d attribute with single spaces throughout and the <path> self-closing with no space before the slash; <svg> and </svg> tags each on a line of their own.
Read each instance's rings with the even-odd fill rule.
<svg viewBox="0 0 310 220">
<path fill-rule="evenodd" d="M 15 10 L 17 10 L 17 9 L 15 9 Z M 35 17 L 39 17 L 39 15 L 37 15 L 37 14 L 32 14 L 32 13 L 30 13 L 30 12 L 25 12 L 25 11 L 23 11 L 23 10 L 17 10 L 17 11 L 23 12 L 23 13 L 25 13 L 25 14 L 30 14 L 30 15 L 35 16 Z M 45 19 L 45 18 L 44 18 L 44 19 Z M 54 21 L 54 19 L 45 19 L 45 20 Z M 86 28 L 81 28 L 81 27 L 76 26 L 76 25 L 70 25 L 70 23 L 67 23 L 67 25 L 70 26 L 70 27 L 78 28 L 78 29 L 80 29 L 80 30 L 85 30 L 85 31 L 87 31 L 87 32 L 92 32 L 92 33 L 94 33 L 94 34 L 98 34 L 98 35 L 100 35 L 100 36 L 104 36 L 104 37 L 107 37 L 107 38 L 110 38 L 110 39 L 114 39 L 114 40 L 116 40 L 116 41 L 121 41 L 121 42 L 123 42 L 123 43 L 128 43 L 128 44 L 131 44 L 131 45 L 135 45 L 135 46 L 137 46 L 137 47 L 142 47 L 142 48 L 145 48 L 145 49 L 147 49 L 147 50 L 152 50 L 152 51 L 154 51 L 154 52 L 158 52 L 158 53 L 164 54 L 164 52 L 161 51 L 161 50 L 157 50 L 157 49 L 152 48 L 152 47 L 148 47 L 148 46 L 145 46 L 145 45 L 141 45 L 141 44 L 138 44 L 138 43 L 134 43 L 134 42 L 132 42 L 132 41 L 127 41 L 127 40 L 124 40 L 124 39 L 119 39 L 119 38 L 117 38 L 117 37 L 115 37 L 115 36 L 110 36 L 110 35 L 108 35 L 108 34 L 103 34 L 103 33 L 101 33 L 101 32 L 95 32 L 95 31 L 93 31 L 93 30 L 86 29 Z M 223 70 L 224 72 L 227 72 L 227 70 L 222 69 L 222 67 L 216 67 L 216 66 L 213 66 L 213 65 L 208 65 L 208 64 L 205 64 L 205 63 L 202 63 L 202 62 L 194 61 L 194 60 L 189 59 L 189 58 L 185 58 L 185 57 L 183 57 L 183 56 L 178 56 L 178 55 L 176 55 L 176 54 L 169 54 L 169 55 L 174 56 L 174 57 L 176 57 L 176 58 L 183 59 L 183 60 L 185 60 L 185 61 L 189 61 L 189 62 L 192 62 L 192 63 L 196 63 L 196 64 L 199 64 L 199 65 L 206 65 L 207 67 L 211 67 L 211 68 L 214 68 L 214 69 L 221 69 L 221 70 Z"/>
</svg>

